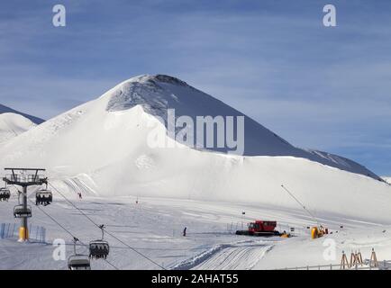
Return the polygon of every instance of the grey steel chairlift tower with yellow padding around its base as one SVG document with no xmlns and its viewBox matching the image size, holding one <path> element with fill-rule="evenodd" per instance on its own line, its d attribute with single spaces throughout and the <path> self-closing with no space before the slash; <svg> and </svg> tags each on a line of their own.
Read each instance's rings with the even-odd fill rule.
<svg viewBox="0 0 391 288">
<path fill-rule="evenodd" d="M 28 241 L 29 230 L 27 219 L 32 217 L 32 210 L 27 205 L 27 187 L 48 184 L 48 178 L 45 175 L 39 174 L 46 170 L 38 168 L 5 168 L 5 171 L 10 173 L 3 178 L 6 184 L 18 185 L 23 188 L 23 201 L 22 204 L 14 208 L 14 216 L 16 218 L 21 218 L 19 241 Z"/>
</svg>

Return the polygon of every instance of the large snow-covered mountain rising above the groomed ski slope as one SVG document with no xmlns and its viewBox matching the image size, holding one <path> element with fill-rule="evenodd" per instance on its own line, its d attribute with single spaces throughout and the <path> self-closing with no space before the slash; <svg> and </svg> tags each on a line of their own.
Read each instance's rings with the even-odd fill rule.
<svg viewBox="0 0 391 288">
<path fill-rule="evenodd" d="M 155 117 L 165 112 L 168 103 L 178 114 L 195 115 L 202 109 L 212 115 L 239 114 L 178 81 L 167 76 L 125 81 L 99 99 L 5 143 L 0 148 L 0 168 L 42 166 L 48 168 L 51 178 L 59 179 L 82 175 L 86 186 L 108 197 L 140 195 L 297 208 L 281 189 L 285 184 L 315 214 L 327 211 L 389 223 L 389 185 L 332 164 L 325 166 L 322 163 L 329 163 L 327 159 L 319 160 L 321 163 L 307 159 L 309 152 L 294 148 L 248 118 L 246 143 L 250 144 L 246 149 L 248 154 L 259 149 L 263 156 L 242 157 L 175 145 L 150 148 L 152 130 L 168 143 L 174 141 L 167 137 L 165 123 Z M 346 165 L 333 164 L 351 168 Z"/>
</svg>

